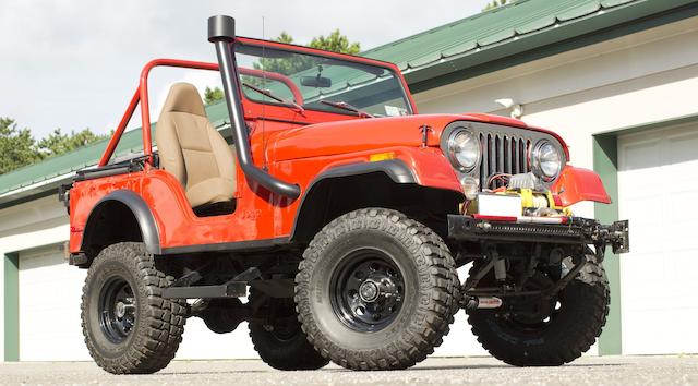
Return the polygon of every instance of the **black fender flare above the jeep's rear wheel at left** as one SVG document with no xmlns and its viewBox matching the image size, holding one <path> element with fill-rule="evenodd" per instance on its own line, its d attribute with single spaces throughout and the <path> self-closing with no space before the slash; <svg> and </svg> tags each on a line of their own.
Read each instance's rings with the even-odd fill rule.
<svg viewBox="0 0 698 386">
<path fill-rule="evenodd" d="M 81 241 L 82 250 L 87 246 L 85 245 L 85 240 L 89 240 L 89 229 L 95 228 L 96 224 L 94 222 L 97 221 L 99 212 L 109 202 L 119 202 L 131 210 L 139 224 L 139 227 L 141 228 L 143 243 L 145 244 L 145 249 L 148 253 L 160 254 L 163 252 L 160 246 L 160 234 L 158 232 L 157 222 L 155 221 L 153 212 L 140 195 L 125 189 L 107 194 L 92 208 L 89 216 L 87 216 L 87 221 L 85 222 L 83 240 Z"/>
</svg>

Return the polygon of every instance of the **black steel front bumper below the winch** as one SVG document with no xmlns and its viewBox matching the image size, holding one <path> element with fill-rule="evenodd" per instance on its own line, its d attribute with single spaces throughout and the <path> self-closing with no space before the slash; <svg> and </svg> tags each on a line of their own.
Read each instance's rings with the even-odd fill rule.
<svg viewBox="0 0 698 386">
<path fill-rule="evenodd" d="M 582 217 L 568 217 L 566 224 L 529 224 L 448 215 L 448 237 L 461 241 L 543 242 L 593 244 L 597 250 L 629 252 L 628 220 L 604 226 Z"/>
</svg>

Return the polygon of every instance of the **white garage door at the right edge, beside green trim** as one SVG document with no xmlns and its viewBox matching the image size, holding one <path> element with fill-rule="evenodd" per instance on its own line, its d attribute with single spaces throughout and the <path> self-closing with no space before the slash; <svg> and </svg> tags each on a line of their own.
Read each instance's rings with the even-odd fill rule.
<svg viewBox="0 0 698 386">
<path fill-rule="evenodd" d="M 623 352 L 698 352 L 698 125 L 618 138 Z"/>
</svg>

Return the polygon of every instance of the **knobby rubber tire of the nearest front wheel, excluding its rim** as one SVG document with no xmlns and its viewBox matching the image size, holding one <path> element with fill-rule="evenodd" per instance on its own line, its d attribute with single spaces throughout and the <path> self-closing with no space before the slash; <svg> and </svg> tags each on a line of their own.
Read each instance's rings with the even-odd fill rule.
<svg viewBox="0 0 698 386">
<path fill-rule="evenodd" d="M 329 293 L 333 269 L 348 251 L 366 246 L 395 252 L 392 256 L 405 276 L 399 314 L 371 333 L 344 324 Z M 407 369 L 424 360 L 448 334 L 458 309 L 459 281 L 443 240 L 393 209 L 359 209 L 325 226 L 303 253 L 296 284 L 308 339 L 324 358 L 351 370 Z"/>
</svg>

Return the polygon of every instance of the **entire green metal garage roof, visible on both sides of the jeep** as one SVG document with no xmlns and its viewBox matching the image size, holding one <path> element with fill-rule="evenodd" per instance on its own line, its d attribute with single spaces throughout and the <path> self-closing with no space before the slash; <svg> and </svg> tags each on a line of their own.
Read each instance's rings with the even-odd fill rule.
<svg viewBox="0 0 698 386">
<path fill-rule="evenodd" d="M 576 47 L 569 41 L 581 41 L 602 32 L 622 31 L 631 23 L 639 26 L 623 29 L 615 36 L 676 20 L 666 19 L 667 14 L 693 16 L 698 14 L 696 5 L 698 0 L 518 0 L 362 55 L 397 63 L 414 93 L 516 64 L 527 52 L 549 56 L 573 49 Z M 662 22 L 638 24 L 648 20 Z M 600 41 L 599 37 L 590 39 L 589 44 L 597 41 Z M 528 60 L 532 59 L 535 57 Z M 206 112 L 214 125 L 219 128 L 227 123 L 226 104 L 209 106 Z M 106 140 L 100 141 L 0 176 L 0 207 L 55 189 L 61 181 L 51 179 L 95 165 L 106 143 Z M 117 156 L 141 147 L 141 131 L 129 131 L 121 140 Z M 22 191 L 22 188 L 43 181 L 47 183 L 41 189 Z"/>
</svg>

